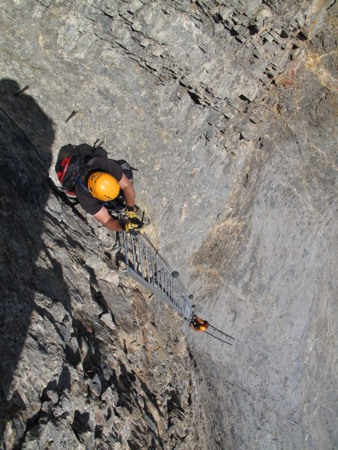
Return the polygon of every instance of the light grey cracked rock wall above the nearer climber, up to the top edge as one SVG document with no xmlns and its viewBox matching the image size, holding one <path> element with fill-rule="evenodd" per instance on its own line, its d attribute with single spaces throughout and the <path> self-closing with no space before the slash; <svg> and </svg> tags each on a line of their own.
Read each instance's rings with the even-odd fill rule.
<svg viewBox="0 0 338 450">
<path fill-rule="evenodd" d="M 331 3 L 9 2 L 4 76 L 31 84 L 58 123 L 53 162 L 65 143 L 98 138 L 130 158 L 142 205 L 161 224 L 153 238 L 175 254 L 177 236 L 192 234 L 181 239 L 188 258 L 232 191 L 275 84 L 292 80 Z"/>
</svg>

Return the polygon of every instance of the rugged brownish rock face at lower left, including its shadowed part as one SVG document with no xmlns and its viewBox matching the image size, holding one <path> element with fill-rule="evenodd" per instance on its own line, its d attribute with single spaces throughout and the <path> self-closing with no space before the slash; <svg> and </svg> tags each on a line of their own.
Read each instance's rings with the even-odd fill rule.
<svg viewBox="0 0 338 450">
<path fill-rule="evenodd" d="M 52 139 L 35 101 L 23 94 L 20 105 Z M 177 314 L 119 278 L 90 224 L 50 192 L 35 148 L 2 119 L 1 448 L 205 449 Z"/>
</svg>

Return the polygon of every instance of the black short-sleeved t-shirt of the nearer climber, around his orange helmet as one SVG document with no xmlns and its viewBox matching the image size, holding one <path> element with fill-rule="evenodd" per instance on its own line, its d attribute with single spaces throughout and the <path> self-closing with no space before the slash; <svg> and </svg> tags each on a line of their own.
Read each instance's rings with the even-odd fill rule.
<svg viewBox="0 0 338 450">
<path fill-rule="evenodd" d="M 91 171 L 93 169 L 103 170 L 104 172 L 113 175 L 118 183 L 121 181 L 123 175 L 122 167 L 117 162 L 101 156 L 94 158 L 94 160 L 89 160 L 87 169 Z M 101 210 L 102 204 L 100 201 L 93 197 L 89 192 L 84 191 L 79 185 L 75 186 L 75 194 L 85 212 L 94 215 Z"/>
</svg>

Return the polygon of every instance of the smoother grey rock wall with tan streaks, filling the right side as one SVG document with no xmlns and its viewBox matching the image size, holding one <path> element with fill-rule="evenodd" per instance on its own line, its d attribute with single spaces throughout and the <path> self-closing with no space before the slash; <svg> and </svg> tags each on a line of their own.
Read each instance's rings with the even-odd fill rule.
<svg viewBox="0 0 338 450">
<path fill-rule="evenodd" d="M 201 316 L 237 339 L 193 340 L 230 448 L 337 448 L 335 64 L 337 9 L 192 259 Z"/>
</svg>

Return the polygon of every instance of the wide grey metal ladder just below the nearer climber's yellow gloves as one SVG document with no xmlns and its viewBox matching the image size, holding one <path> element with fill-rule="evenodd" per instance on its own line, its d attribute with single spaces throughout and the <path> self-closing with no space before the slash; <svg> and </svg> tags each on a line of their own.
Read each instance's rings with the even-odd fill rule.
<svg viewBox="0 0 338 450">
<path fill-rule="evenodd" d="M 171 272 L 165 263 L 154 255 L 154 252 L 142 240 L 141 235 L 132 236 L 123 231 L 123 245 L 115 250 L 118 249 L 124 250 L 125 253 L 124 273 L 177 309 L 184 319 L 187 321 L 192 319 L 191 299 L 193 296 L 189 296 L 182 283 L 173 276 L 175 272 Z"/>
</svg>

